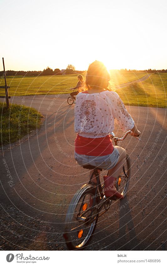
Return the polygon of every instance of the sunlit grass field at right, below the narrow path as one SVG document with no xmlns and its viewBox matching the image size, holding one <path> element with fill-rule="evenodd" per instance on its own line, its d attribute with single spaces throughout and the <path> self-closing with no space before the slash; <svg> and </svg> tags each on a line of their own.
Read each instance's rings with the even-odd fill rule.
<svg viewBox="0 0 167 266">
<path fill-rule="evenodd" d="M 152 74 L 142 83 L 117 89 L 125 105 L 166 108 L 167 73 Z"/>
</svg>

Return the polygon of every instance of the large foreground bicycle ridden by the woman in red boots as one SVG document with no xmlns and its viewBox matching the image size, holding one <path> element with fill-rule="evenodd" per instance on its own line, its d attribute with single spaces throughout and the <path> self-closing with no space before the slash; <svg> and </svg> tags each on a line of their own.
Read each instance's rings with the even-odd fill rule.
<svg viewBox="0 0 167 266">
<path fill-rule="evenodd" d="M 115 145 L 118 145 L 118 141 L 124 140 L 130 133 L 129 130 L 123 138 L 117 138 L 112 132 L 110 138 L 114 140 Z M 72 198 L 66 214 L 63 236 L 69 250 L 82 250 L 88 245 L 96 229 L 98 218 L 108 211 L 112 200 L 117 199 L 116 196 L 106 198 L 104 194 L 104 183 L 101 185 L 98 173 L 98 170 L 102 171 L 102 168 L 92 165 L 84 165 L 83 168 L 94 171 L 89 183 L 83 185 Z M 96 176 L 97 185 L 91 182 L 93 175 Z M 131 162 L 127 155 L 123 169 L 116 180 L 116 188 L 123 196 L 128 192 L 130 175 Z M 92 206 L 89 206 L 90 198 L 93 199 Z"/>
</svg>

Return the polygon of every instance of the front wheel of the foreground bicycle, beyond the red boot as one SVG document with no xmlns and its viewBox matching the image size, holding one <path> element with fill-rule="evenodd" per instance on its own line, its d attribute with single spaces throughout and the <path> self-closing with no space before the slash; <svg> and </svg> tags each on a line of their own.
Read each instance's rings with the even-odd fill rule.
<svg viewBox="0 0 167 266">
<path fill-rule="evenodd" d="M 126 161 L 123 165 L 123 169 L 121 170 L 121 173 L 116 180 L 116 188 L 123 196 L 125 196 L 128 192 L 130 175 L 131 175 L 131 162 L 129 156 L 127 155 Z"/>
</svg>

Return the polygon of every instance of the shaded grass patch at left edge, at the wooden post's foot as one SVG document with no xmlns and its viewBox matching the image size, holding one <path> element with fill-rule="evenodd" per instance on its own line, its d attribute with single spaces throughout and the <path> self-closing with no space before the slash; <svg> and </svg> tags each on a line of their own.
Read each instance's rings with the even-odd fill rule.
<svg viewBox="0 0 167 266">
<path fill-rule="evenodd" d="M 39 128 L 41 117 L 42 115 L 34 108 L 12 104 L 12 107 L 7 109 L 6 104 L 0 102 L 0 146 L 13 143 L 31 130 Z"/>
</svg>

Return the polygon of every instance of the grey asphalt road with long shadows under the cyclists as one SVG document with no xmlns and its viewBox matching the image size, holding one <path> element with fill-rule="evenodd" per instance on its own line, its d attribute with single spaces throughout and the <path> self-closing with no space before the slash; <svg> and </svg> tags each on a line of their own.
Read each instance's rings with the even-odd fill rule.
<svg viewBox="0 0 167 266">
<path fill-rule="evenodd" d="M 10 102 L 21 104 L 22 98 L 11 97 Z M 45 120 L 37 134 L 1 155 L 0 248 L 67 250 L 62 234 L 68 204 L 88 181 L 88 171 L 73 158 L 74 105 L 54 96 L 24 100 Z M 121 143 L 132 163 L 129 191 L 99 218 L 86 250 L 166 249 L 165 109 L 127 108 L 142 132 L 142 142 L 128 136 Z"/>
</svg>

